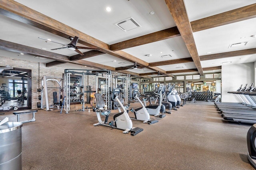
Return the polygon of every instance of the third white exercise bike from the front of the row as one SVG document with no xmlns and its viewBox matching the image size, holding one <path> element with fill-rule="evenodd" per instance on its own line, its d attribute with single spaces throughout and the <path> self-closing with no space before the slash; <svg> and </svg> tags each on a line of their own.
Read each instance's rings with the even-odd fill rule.
<svg viewBox="0 0 256 170">
<path fill-rule="evenodd" d="M 157 117 L 166 117 L 165 114 L 160 114 L 161 107 L 164 107 L 164 105 L 162 106 L 162 100 L 161 100 L 162 99 L 162 92 L 161 92 L 162 87 L 163 87 L 163 85 L 160 85 L 158 87 L 158 91 L 154 92 L 156 95 L 159 96 L 159 99 L 160 99 L 159 102 L 158 102 L 158 105 L 148 105 L 148 106 L 145 107 L 150 115 L 154 115 L 154 116 L 157 116 Z M 164 110 L 165 110 L 165 107 L 164 107 Z"/>
</svg>

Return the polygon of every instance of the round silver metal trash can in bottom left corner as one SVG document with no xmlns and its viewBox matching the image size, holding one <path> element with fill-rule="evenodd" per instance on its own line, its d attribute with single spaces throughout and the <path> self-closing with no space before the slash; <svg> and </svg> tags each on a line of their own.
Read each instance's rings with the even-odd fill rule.
<svg viewBox="0 0 256 170">
<path fill-rule="evenodd" d="M 6 122 L 0 126 L 0 170 L 22 169 L 22 138 L 20 122 Z"/>
</svg>

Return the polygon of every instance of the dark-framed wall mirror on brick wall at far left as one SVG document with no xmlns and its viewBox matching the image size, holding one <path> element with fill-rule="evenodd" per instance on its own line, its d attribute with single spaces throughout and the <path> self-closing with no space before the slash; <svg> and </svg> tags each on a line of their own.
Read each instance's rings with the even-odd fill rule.
<svg viewBox="0 0 256 170">
<path fill-rule="evenodd" d="M 31 89 L 31 70 L 0 66 L 0 110 L 31 109 Z"/>
</svg>

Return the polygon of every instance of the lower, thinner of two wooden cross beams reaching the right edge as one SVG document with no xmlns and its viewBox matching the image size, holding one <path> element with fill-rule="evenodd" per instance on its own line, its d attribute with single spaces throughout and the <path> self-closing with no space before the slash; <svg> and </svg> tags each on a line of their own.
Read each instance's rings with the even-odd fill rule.
<svg viewBox="0 0 256 170">
<path fill-rule="evenodd" d="M 209 55 L 201 55 L 200 60 L 210 60 L 210 59 L 220 59 L 225 57 L 236 57 L 236 56 L 242 56 L 242 55 L 251 55 L 256 54 L 256 48 L 251 49 L 243 49 L 238 51 L 230 51 L 225 53 L 216 53 L 216 54 L 209 54 Z"/>
</svg>

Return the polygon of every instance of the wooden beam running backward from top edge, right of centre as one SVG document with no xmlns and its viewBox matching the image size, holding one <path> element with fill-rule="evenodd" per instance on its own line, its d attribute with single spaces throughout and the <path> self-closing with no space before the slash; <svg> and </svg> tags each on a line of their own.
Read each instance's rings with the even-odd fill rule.
<svg viewBox="0 0 256 170">
<path fill-rule="evenodd" d="M 196 65 L 196 68 L 198 69 L 198 72 L 200 73 L 200 75 L 204 75 L 196 49 L 196 43 L 194 41 L 192 28 L 188 20 L 184 0 L 165 0 L 165 2 L 170 13 L 172 14 L 172 18 L 174 19 L 178 30 L 180 31 L 180 35 L 185 42 L 186 47 L 188 48 L 188 51 Z"/>
</svg>

